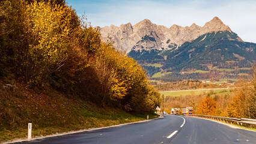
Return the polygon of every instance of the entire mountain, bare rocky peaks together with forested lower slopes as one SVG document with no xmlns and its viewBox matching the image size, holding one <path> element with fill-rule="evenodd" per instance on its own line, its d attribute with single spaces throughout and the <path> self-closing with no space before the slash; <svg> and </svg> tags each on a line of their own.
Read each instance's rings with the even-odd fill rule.
<svg viewBox="0 0 256 144">
<path fill-rule="evenodd" d="M 204 26 L 192 23 L 170 28 L 145 19 L 133 26 L 131 23 L 120 27 L 106 26 L 100 32 L 103 41 L 114 41 L 114 47 L 138 61 L 151 79 L 246 78 L 249 70 L 237 70 L 256 64 L 256 44 L 243 41 L 218 17 Z M 156 64 L 161 66 L 152 66 Z M 186 71 L 190 73 L 184 73 Z M 195 74 L 193 71 L 204 73 Z M 165 74 L 154 78 L 156 73 Z"/>
</svg>

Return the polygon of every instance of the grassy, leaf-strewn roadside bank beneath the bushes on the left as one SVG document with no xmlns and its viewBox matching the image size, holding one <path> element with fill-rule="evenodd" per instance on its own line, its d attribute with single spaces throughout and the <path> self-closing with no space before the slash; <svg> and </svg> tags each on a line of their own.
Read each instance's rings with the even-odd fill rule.
<svg viewBox="0 0 256 144">
<path fill-rule="evenodd" d="M 35 137 L 136 122 L 147 119 L 148 115 L 100 107 L 78 95 L 53 89 L 29 89 L 21 83 L 5 88 L 4 82 L 0 85 L 0 142 L 26 137 L 29 120 L 32 121 L 32 137 Z M 156 117 L 150 115 L 150 119 Z"/>
</svg>

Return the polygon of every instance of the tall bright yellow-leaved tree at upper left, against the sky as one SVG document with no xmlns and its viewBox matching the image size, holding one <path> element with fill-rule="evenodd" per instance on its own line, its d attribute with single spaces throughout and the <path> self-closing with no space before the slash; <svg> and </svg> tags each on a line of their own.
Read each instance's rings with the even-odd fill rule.
<svg viewBox="0 0 256 144">
<path fill-rule="evenodd" d="M 23 71 L 26 79 L 37 83 L 58 70 L 67 59 L 70 34 L 79 26 L 78 17 L 66 5 L 32 2 L 26 5 L 23 20 L 28 52 Z"/>
</svg>

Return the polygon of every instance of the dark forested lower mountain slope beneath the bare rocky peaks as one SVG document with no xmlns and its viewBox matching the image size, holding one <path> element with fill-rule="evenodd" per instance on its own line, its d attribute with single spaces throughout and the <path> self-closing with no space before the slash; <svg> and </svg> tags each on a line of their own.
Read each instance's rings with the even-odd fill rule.
<svg viewBox="0 0 256 144">
<path fill-rule="evenodd" d="M 218 81 L 239 77 L 248 79 L 248 74 L 251 73 L 248 68 L 256 64 L 256 44 L 240 41 L 234 32 L 219 31 L 201 35 L 191 42 L 187 41 L 178 49 L 131 50 L 128 56 L 138 61 L 153 80 L 213 79 Z M 156 64 L 160 66 L 154 67 Z M 203 71 L 203 73 L 197 71 Z M 153 77 L 160 72 L 164 73 L 163 76 Z"/>
</svg>

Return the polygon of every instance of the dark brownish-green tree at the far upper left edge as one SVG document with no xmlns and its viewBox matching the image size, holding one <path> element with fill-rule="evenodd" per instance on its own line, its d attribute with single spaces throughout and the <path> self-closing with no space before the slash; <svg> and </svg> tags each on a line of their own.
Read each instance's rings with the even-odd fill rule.
<svg viewBox="0 0 256 144">
<path fill-rule="evenodd" d="M 26 42 L 22 35 L 26 2 L 0 1 L 0 77 L 20 73 L 21 55 Z"/>
</svg>

